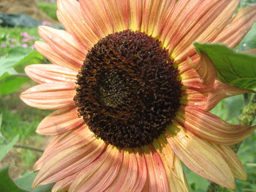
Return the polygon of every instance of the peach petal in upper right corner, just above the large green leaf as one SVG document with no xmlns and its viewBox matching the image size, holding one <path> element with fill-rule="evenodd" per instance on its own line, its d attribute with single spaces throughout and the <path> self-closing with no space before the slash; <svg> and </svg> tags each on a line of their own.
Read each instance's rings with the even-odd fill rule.
<svg viewBox="0 0 256 192">
<path fill-rule="evenodd" d="M 213 42 L 222 42 L 229 47 L 235 48 L 250 30 L 256 19 L 256 6 L 244 7 L 231 20 Z"/>
</svg>

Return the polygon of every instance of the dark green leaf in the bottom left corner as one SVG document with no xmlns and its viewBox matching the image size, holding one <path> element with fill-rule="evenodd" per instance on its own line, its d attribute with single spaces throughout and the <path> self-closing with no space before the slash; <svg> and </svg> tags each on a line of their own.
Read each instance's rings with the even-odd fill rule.
<svg viewBox="0 0 256 192">
<path fill-rule="evenodd" d="M 8 175 L 9 165 L 0 169 L 0 191 L 1 192 L 24 192 L 18 188 Z"/>
</svg>

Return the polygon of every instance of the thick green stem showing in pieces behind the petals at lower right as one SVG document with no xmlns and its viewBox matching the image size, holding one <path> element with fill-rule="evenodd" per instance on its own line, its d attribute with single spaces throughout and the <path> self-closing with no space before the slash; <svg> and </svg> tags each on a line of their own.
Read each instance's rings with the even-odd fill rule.
<svg viewBox="0 0 256 192">
<path fill-rule="evenodd" d="M 248 97 L 247 95 L 244 95 L 245 103 L 248 103 Z M 252 122 L 254 121 L 256 116 L 256 94 L 253 95 L 252 101 L 247 104 L 244 109 L 242 110 L 241 119 L 239 121 L 239 124 L 250 126 L 252 125 Z M 241 143 L 237 143 L 236 145 L 231 146 L 231 148 L 234 150 L 235 153 L 238 153 L 239 147 L 241 146 Z M 217 185 L 214 182 L 210 182 L 208 185 L 208 188 L 206 192 L 217 192 L 220 189 L 220 185 Z"/>
</svg>

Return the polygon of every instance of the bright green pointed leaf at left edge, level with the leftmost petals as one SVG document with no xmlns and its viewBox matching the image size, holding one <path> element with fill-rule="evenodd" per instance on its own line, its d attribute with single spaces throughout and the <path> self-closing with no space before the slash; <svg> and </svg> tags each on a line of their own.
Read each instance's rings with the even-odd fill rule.
<svg viewBox="0 0 256 192">
<path fill-rule="evenodd" d="M 25 76 L 9 76 L 0 81 L 0 94 L 10 94 L 28 81 L 30 81 L 30 78 Z"/>
</svg>

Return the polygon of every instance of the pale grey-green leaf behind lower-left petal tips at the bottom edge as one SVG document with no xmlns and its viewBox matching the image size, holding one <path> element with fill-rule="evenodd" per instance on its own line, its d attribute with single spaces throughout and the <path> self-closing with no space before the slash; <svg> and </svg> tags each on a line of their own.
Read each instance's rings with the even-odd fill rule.
<svg viewBox="0 0 256 192">
<path fill-rule="evenodd" d="M 31 186 L 34 178 L 36 177 L 38 172 L 29 172 L 27 174 L 22 175 L 22 177 L 14 180 L 14 183 L 21 188 L 22 190 L 30 191 L 30 192 L 50 192 L 55 183 L 49 185 L 41 185 L 31 190 Z"/>
</svg>

